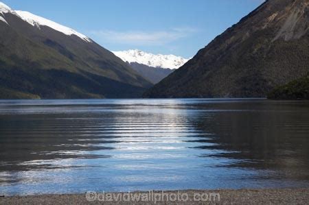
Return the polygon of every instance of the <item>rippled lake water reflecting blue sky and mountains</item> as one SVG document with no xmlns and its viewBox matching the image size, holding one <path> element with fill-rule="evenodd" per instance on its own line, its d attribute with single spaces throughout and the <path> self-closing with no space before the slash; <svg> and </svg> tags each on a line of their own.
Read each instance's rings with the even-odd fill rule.
<svg viewBox="0 0 309 205">
<path fill-rule="evenodd" d="M 0 101 L 0 195 L 309 187 L 309 102 Z"/>
</svg>

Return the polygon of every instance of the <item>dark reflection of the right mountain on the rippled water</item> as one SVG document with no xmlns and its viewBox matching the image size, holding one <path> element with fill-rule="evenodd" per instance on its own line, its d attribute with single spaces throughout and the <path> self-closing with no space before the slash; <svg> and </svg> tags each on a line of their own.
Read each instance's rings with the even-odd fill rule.
<svg viewBox="0 0 309 205">
<path fill-rule="evenodd" d="M 308 108 L 308 102 L 292 101 L 222 104 L 218 112 L 201 112 L 192 121 L 196 130 L 211 136 L 188 142 L 201 143 L 194 149 L 227 151 L 200 155 L 235 160 L 222 166 L 279 170 L 309 180 Z"/>
</svg>

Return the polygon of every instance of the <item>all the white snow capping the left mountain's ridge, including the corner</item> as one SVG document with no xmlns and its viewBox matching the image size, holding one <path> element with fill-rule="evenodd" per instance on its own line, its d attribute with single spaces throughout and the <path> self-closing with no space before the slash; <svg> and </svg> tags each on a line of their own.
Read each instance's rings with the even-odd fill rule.
<svg viewBox="0 0 309 205">
<path fill-rule="evenodd" d="M 76 32 L 76 30 L 71 29 L 69 27 L 66 27 L 64 25 L 60 25 L 59 23 L 56 23 L 54 21 L 50 21 L 48 19 L 45 19 L 41 16 L 36 16 L 35 14 L 32 14 L 30 12 L 25 11 L 19 11 L 19 10 L 12 10 L 8 5 L 5 5 L 4 3 L 0 2 L 0 13 L 11 13 L 15 14 L 16 16 L 19 16 L 23 21 L 26 21 L 27 23 L 30 23 L 30 25 L 36 26 L 40 29 L 40 26 L 45 25 L 48 27 L 51 27 L 52 29 L 57 30 L 58 32 L 61 32 L 63 34 L 66 34 L 68 36 L 76 35 L 82 40 L 85 40 L 87 42 L 91 42 L 91 39 L 85 36 L 84 34 L 80 34 L 79 32 Z M 3 19 L 2 16 L 0 16 L 0 21 L 4 21 L 5 23 L 8 23 Z"/>
</svg>

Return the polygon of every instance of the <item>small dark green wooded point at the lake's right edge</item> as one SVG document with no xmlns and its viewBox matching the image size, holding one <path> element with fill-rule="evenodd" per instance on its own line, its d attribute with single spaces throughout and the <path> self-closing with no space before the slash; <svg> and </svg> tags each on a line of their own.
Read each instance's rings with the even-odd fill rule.
<svg viewBox="0 0 309 205">
<path fill-rule="evenodd" d="M 284 86 L 278 86 L 267 95 L 268 99 L 309 99 L 309 73 Z"/>
</svg>

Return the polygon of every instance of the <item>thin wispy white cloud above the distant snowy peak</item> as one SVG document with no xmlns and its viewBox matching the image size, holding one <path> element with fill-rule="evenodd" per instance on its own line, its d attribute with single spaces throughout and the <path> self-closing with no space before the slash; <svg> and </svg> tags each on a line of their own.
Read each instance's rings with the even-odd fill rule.
<svg viewBox="0 0 309 205">
<path fill-rule="evenodd" d="M 113 30 L 100 30 L 89 32 L 95 38 L 113 43 L 128 45 L 165 45 L 166 43 L 190 36 L 197 30 L 190 27 L 178 27 L 168 31 L 142 32 L 128 31 L 118 32 Z"/>
</svg>

